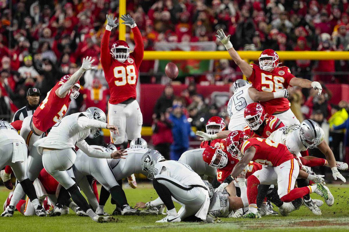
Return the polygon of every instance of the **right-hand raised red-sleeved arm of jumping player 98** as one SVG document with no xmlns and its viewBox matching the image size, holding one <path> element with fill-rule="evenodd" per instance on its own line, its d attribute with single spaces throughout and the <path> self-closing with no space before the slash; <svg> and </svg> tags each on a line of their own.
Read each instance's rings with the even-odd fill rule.
<svg viewBox="0 0 349 232">
<path fill-rule="evenodd" d="M 139 67 L 144 55 L 142 34 L 139 31 L 137 24 L 130 15 L 122 15 L 120 18 L 122 19 L 122 21 L 124 21 L 122 24 L 131 27 L 131 30 L 133 32 L 135 46 L 132 54 L 135 59 L 136 65 Z"/>
</svg>

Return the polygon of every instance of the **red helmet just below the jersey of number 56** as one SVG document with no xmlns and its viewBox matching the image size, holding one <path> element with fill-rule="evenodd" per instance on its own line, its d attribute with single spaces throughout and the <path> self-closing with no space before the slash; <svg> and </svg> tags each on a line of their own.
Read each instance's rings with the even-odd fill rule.
<svg viewBox="0 0 349 232">
<path fill-rule="evenodd" d="M 244 118 L 251 130 L 257 130 L 262 125 L 265 118 L 265 111 L 261 104 L 248 104 L 244 111 Z"/>
</svg>

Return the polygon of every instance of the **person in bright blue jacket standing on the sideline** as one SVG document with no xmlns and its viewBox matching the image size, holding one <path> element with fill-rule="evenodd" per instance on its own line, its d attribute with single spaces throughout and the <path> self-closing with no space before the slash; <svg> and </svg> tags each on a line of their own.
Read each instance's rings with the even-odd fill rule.
<svg viewBox="0 0 349 232">
<path fill-rule="evenodd" d="M 174 105 L 169 120 L 172 121 L 173 143 L 171 145 L 170 159 L 178 160 L 181 154 L 189 148 L 189 137 L 195 137 L 187 117 L 183 114 L 181 106 Z"/>
</svg>

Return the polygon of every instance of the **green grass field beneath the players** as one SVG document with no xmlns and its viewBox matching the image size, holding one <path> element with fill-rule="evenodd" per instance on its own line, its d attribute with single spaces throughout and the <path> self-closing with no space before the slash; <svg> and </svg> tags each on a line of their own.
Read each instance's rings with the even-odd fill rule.
<svg viewBox="0 0 349 232">
<path fill-rule="evenodd" d="M 222 223 L 220 224 L 155 223 L 156 220 L 164 217 L 163 215 L 117 216 L 116 218 L 119 219 L 119 222 L 98 224 L 90 218 L 78 217 L 72 213 L 61 217 L 39 218 L 36 216 L 25 217 L 16 211 L 12 218 L 0 218 L 0 231 L 349 231 L 349 185 L 328 186 L 335 197 L 335 203 L 332 207 L 324 204 L 321 207 L 321 216 L 314 216 L 309 209 L 302 206 L 287 217 L 266 216 L 261 219 L 222 218 Z M 9 190 L 5 189 L 5 187 L 0 187 L 1 207 L 8 192 Z M 149 199 L 157 197 L 154 189 L 149 184 L 144 184 L 143 186 L 139 183 L 137 189 L 126 188 L 125 192 L 131 206 L 134 206 L 138 201 L 147 202 Z M 316 198 L 317 195 L 312 194 L 312 197 Z M 108 213 L 112 213 L 114 206 L 109 201 L 105 209 Z"/>
</svg>

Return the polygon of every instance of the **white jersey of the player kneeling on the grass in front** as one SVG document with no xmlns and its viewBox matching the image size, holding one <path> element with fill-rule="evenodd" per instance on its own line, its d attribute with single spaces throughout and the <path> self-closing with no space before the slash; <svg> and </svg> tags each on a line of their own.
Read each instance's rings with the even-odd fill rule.
<svg viewBox="0 0 349 232">
<path fill-rule="evenodd" d="M 169 176 L 184 185 L 206 186 L 200 176 L 196 174 L 189 165 L 175 160 L 166 160 L 156 163 L 154 166 L 154 177 L 158 174 Z"/>
</svg>

